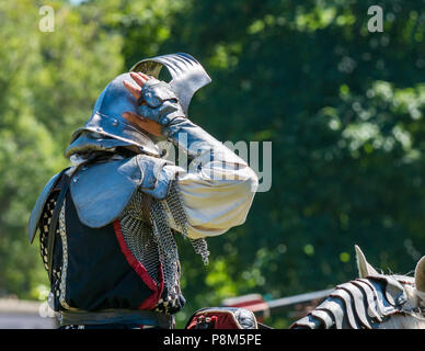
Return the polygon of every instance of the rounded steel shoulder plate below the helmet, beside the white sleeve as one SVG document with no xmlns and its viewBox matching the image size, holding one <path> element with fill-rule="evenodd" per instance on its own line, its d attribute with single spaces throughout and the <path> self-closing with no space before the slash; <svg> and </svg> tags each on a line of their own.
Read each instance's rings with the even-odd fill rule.
<svg viewBox="0 0 425 351">
<path fill-rule="evenodd" d="M 70 192 L 80 220 L 101 228 L 123 213 L 140 189 L 163 200 L 173 174 L 164 172 L 166 161 L 147 155 L 82 167 L 71 180 Z"/>
</svg>

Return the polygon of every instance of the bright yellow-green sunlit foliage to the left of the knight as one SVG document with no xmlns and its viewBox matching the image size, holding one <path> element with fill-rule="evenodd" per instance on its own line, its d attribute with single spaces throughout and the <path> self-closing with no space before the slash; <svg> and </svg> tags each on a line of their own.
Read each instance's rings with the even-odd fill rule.
<svg viewBox="0 0 425 351">
<path fill-rule="evenodd" d="M 50 5 L 53 33 L 38 31 L 34 1 L 0 4 L 0 294 L 21 297 L 46 284 L 38 248 L 27 244 L 31 208 L 67 166 L 70 132 L 123 66 L 120 36 L 66 3 Z"/>
</svg>

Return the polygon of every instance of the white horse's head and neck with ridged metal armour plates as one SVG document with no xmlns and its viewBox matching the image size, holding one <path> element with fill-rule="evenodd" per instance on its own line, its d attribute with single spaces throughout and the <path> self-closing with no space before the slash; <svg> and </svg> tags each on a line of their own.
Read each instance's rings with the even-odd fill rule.
<svg viewBox="0 0 425 351">
<path fill-rule="evenodd" d="M 291 329 L 425 329 L 425 256 L 414 278 L 378 273 L 355 246 L 359 278 L 335 291 Z"/>
</svg>

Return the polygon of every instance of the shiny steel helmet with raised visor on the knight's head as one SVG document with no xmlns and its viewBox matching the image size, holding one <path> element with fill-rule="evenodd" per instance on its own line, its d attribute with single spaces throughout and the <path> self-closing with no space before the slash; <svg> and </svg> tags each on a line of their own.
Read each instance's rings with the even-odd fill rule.
<svg viewBox="0 0 425 351">
<path fill-rule="evenodd" d="M 130 71 L 159 78 L 162 67 L 168 68 L 172 77 L 170 87 L 187 115 L 192 97 L 211 79 L 194 57 L 183 53 L 140 60 Z M 131 80 L 129 72 L 116 77 L 102 91 L 90 120 L 72 134 L 70 146 L 65 151 L 66 157 L 88 151 L 111 150 L 116 147 L 161 157 L 159 148 L 148 134 L 123 117 L 124 112 L 137 114 L 137 101 L 124 87 L 124 80 Z"/>
</svg>

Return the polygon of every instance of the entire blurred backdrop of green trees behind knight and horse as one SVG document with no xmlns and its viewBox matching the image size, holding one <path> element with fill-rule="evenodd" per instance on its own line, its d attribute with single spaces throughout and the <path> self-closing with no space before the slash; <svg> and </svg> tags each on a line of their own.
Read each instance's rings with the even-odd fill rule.
<svg viewBox="0 0 425 351">
<path fill-rule="evenodd" d="M 41 32 L 39 8 L 55 9 Z M 367 10 L 383 9 L 369 33 Z M 273 141 L 272 190 L 245 225 L 209 240 L 204 268 L 181 244 L 196 308 L 356 278 L 354 244 L 383 270 L 425 254 L 425 1 L 91 0 L 0 3 L 0 296 L 45 298 L 26 223 L 68 165 L 71 132 L 137 60 L 185 52 L 213 78 L 191 117 L 220 140 Z M 273 319 L 285 327 L 287 318 Z"/>
</svg>

